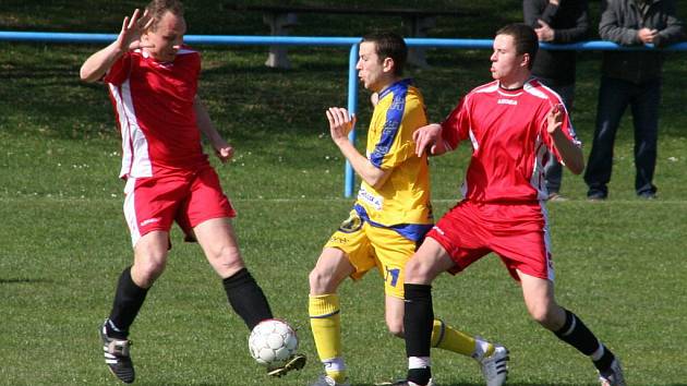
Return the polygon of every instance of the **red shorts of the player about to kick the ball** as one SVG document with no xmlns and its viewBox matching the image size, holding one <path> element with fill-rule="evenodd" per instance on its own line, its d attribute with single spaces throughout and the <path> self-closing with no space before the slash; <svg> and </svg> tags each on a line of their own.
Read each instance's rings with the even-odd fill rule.
<svg viewBox="0 0 687 386">
<path fill-rule="evenodd" d="M 154 230 L 169 232 L 173 221 L 193 241 L 193 228 L 213 218 L 236 217 L 210 166 L 189 172 L 129 178 L 124 189 L 124 217 L 136 245 Z"/>
</svg>

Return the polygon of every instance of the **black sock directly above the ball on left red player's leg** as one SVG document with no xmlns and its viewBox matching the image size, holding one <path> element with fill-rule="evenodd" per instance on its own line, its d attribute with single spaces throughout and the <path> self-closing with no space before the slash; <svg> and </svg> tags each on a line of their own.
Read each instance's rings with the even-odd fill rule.
<svg viewBox="0 0 687 386">
<path fill-rule="evenodd" d="M 222 280 L 227 299 L 250 330 L 261 321 L 273 318 L 269 303 L 246 268 Z"/>
</svg>

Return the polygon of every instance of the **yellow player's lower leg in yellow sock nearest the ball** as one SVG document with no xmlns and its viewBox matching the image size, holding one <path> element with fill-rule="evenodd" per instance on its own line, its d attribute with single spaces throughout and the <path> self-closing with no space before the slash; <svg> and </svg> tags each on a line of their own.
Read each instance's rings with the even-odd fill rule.
<svg viewBox="0 0 687 386">
<path fill-rule="evenodd" d="M 310 324 L 326 377 L 337 384 L 346 382 L 346 363 L 341 350 L 339 285 L 355 272 L 348 255 L 337 248 L 325 248 L 310 273 Z"/>
</svg>

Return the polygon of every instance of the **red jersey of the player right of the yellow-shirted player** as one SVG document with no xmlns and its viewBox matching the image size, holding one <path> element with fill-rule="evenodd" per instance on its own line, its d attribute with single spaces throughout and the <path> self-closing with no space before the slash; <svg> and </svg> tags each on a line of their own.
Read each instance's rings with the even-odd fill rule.
<svg viewBox="0 0 687 386">
<path fill-rule="evenodd" d="M 472 158 L 462 194 L 483 203 L 525 203 L 545 200 L 544 165 L 549 150 L 561 158 L 546 132 L 546 114 L 561 97 L 537 80 L 518 89 L 501 88 L 497 81 L 466 95 L 442 123 L 448 148 L 470 138 Z M 576 145 L 567 111 L 562 130 Z"/>
</svg>

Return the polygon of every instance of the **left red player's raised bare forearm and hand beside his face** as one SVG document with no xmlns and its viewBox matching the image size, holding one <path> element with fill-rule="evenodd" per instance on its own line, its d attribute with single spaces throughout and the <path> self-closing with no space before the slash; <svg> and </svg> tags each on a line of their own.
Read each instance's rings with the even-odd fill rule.
<svg viewBox="0 0 687 386">
<path fill-rule="evenodd" d="M 117 40 L 86 59 L 80 71 L 82 81 L 96 82 L 100 80 L 117 59 L 121 58 L 128 50 L 153 47 L 152 44 L 141 41 L 141 35 L 150 26 L 153 19 L 148 17 L 147 11 L 143 13 L 142 17 L 138 17 L 140 12 L 136 9 L 131 19 L 129 16 L 124 17 L 122 29 Z"/>
</svg>

